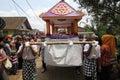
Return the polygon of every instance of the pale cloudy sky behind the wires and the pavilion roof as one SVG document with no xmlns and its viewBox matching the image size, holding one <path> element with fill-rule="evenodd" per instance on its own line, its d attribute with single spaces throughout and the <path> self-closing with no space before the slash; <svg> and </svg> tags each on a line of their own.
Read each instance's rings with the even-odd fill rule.
<svg viewBox="0 0 120 80">
<path fill-rule="evenodd" d="M 59 1 L 61 0 L 0 0 L 0 16 L 25 16 L 33 29 L 44 31 L 45 22 L 39 18 L 39 15 L 51 9 Z M 73 0 L 65 1 L 78 10 L 79 5 Z"/>
</svg>

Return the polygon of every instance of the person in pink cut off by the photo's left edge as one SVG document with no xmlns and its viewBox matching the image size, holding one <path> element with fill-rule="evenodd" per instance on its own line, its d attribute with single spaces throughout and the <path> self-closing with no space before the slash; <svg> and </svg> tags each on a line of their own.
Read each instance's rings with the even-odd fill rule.
<svg viewBox="0 0 120 80">
<path fill-rule="evenodd" d="M 9 80 L 8 75 L 3 67 L 3 62 L 7 59 L 7 55 L 3 49 L 3 37 L 0 36 L 0 80 Z"/>
</svg>

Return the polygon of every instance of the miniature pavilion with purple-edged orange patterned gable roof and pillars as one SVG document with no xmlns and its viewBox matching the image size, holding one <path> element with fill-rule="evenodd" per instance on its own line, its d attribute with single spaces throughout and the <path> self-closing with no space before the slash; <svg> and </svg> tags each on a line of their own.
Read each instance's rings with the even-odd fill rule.
<svg viewBox="0 0 120 80">
<path fill-rule="evenodd" d="M 42 13 L 40 17 L 46 22 L 46 33 L 58 34 L 65 32 L 65 34 L 78 33 L 78 21 L 82 19 L 84 14 L 73 9 L 64 0 L 58 2 L 46 13 Z M 51 26 L 51 27 L 50 27 Z"/>
</svg>

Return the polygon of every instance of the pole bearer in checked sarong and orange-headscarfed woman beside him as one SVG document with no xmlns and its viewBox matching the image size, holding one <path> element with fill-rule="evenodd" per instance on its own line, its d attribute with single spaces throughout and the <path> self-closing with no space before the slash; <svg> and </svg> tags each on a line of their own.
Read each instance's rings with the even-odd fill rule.
<svg viewBox="0 0 120 80">
<path fill-rule="evenodd" d="M 101 39 L 94 35 L 90 38 L 94 44 L 84 45 L 83 74 L 85 80 L 110 80 L 111 60 L 115 58 L 115 37 L 103 35 Z"/>
</svg>

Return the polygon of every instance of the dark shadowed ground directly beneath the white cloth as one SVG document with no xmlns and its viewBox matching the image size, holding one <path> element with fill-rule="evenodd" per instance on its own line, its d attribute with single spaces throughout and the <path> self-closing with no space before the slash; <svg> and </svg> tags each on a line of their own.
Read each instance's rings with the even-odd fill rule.
<svg viewBox="0 0 120 80">
<path fill-rule="evenodd" d="M 36 80 L 83 80 L 81 74 L 76 74 L 75 67 L 53 67 L 47 66 L 47 71 L 41 73 L 41 68 L 38 69 Z"/>
</svg>

